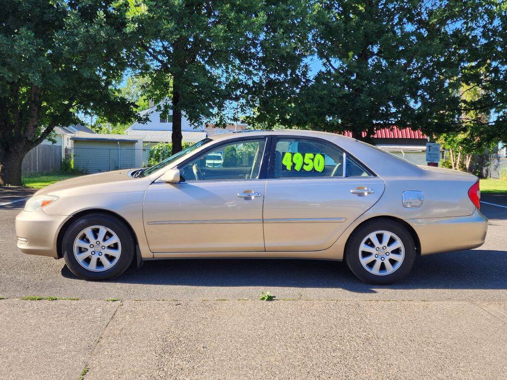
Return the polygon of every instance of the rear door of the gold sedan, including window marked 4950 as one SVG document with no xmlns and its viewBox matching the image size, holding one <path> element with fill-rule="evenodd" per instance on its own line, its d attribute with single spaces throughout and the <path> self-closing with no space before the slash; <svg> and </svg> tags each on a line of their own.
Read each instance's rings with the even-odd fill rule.
<svg viewBox="0 0 507 380">
<path fill-rule="evenodd" d="M 338 146 L 277 137 L 264 194 L 266 251 L 319 251 L 382 196 L 384 181 Z"/>
</svg>

